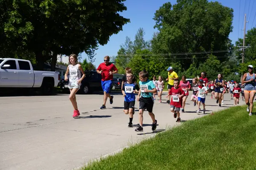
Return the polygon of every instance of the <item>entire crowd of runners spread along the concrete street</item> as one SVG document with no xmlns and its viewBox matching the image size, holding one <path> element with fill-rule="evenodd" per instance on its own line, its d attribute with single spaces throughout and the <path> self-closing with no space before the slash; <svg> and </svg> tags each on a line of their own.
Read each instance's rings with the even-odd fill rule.
<svg viewBox="0 0 256 170">
<path fill-rule="evenodd" d="M 67 67 L 65 74 L 65 80 L 69 79 L 70 88 L 70 101 L 74 108 L 73 117 L 80 115 L 78 106 L 76 103 L 76 92 L 79 90 L 81 81 L 84 79 L 85 74 L 81 65 L 78 64 L 78 59 L 75 54 L 69 56 L 70 65 Z M 81 72 L 80 72 L 81 71 Z M 111 84 L 113 80 L 113 74 L 117 73 L 116 66 L 110 62 L 110 57 L 105 56 L 104 62 L 97 68 L 97 73 L 102 75 L 102 89 L 104 91 L 103 105 L 100 109 L 106 109 L 106 101 L 109 98 L 110 104 L 113 103 L 113 96 L 110 95 Z M 170 105 L 170 111 L 173 113 L 174 118 L 177 118 L 176 122 L 180 122 L 180 110 L 185 113 L 186 99 L 189 96 L 189 91 L 192 90 L 192 96 L 190 100 L 197 106 L 197 113 L 201 111 L 201 105 L 203 105 L 203 113 L 205 113 L 205 100 L 208 93 L 216 99 L 216 103 L 219 107 L 224 104 L 224 94 L 230 93 L 231 99 L 234 99 L 234 105 L 239 104 L 240 93 L 242 100 L 245 100 L 247 111 L 249 116 L 252 115 L 253 99 L 255 97 L 255 79 L 256 75 L 253 73 L 253 65 L 248 65 L 248 73 L 244 74 L 241 85 L 239 83 L 226 81 L 221 74 L 215 80 L 209 81 L 206 77 L 206 73 L 202 72 L 201 77 L 195 77 L 192 79 L 192 84 L 186 80 L 186 76 L 183 75 L 181 80 L 172 67 L 167 69 L 168 78 L 166 79 L 168 100 L 166 103 Z M 122 94 L 124 96 L 124 112 L 129 115 L 128 127 L 133 127 L 133 115 L 134 105 L 136 101 L 139 102 L 139 126 L 135 129 L 137 132 L 143 132 L 143 112 L 148 111 L 149 116 L 152 119 L 152 130 L 156 130 L 157 120 L 153 113 L 153 105 L 156 100 L 156 96 L 159 97 L 159 103 L 162 103 L 162 92 L 165 82 L 163 77 L 152 77 L 150 80 L 147 71 L 141 71 L 139 73 L 139 85 L 135 76 L 132 74 L 131 68 L 125 68 L 125 75 L 122 77 Z M 69 74 L 69 78 L 68 78 Z M 82 75 L 81 75 L 82 74 Z"/>
</svg>

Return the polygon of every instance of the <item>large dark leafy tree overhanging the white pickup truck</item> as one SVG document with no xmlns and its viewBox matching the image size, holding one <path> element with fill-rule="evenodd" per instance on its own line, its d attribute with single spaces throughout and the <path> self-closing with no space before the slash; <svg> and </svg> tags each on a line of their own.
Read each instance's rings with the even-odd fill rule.
<svg viewBox="0 0 256 170">
<path fill-rule="evenodd" d="M 130 20 L 118 12 L 127 10 L 125 0 L 1 0 L 0 50 L 7 57 L 22 51 L 33 53 L 39 69 L 57 54 L 80 54 L 93 58 L 98 44 Z"/>
</svg>

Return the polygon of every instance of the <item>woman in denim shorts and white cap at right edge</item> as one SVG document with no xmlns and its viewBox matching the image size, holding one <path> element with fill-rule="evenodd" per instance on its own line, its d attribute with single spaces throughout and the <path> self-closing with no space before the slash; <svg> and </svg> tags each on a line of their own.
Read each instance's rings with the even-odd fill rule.
<svg viewBox="0 0 256 170">
<path fill-rule="evenodd" d="M 253 111 L 253 99 L 255 96 L 255 74 L 253 73 L 253 65 L 248 65 L 248 73 L 245 73 L 242 79 L 244 85 L 244 99 L 247 107 L 247 112 L 249 116 L 252 116 Z M 249 101 L 250 100 L 250 101 Z"/>
</svg>

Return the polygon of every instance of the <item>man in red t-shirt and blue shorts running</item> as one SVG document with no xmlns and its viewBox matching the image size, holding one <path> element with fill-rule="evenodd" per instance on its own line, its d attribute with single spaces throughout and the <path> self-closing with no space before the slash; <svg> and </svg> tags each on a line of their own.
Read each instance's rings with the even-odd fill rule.
<svg viewBox="0 0 256 170">
<path fill-rule="evenodd" d="M 113 74 L 117 73 L 118 70 L 113 63 L 109 62 L 109 56 L 104 57 L 104 62 L 102 62 L 97 68 L 97 73 L 102 75 L 102 89 L 104 91 L 103 105 L 100 109 L 106 108 L 106 102 L 109 97 L 110 104 L 113 103 L 113 97 L 109 94 L 111 89 L 111 84 L 113 80 Z"/>
</svg>

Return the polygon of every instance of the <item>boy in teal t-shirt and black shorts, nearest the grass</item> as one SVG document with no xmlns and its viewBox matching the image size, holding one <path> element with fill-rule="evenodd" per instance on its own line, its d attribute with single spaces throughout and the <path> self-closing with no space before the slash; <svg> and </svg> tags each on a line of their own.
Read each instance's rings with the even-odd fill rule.
<svg viewBox="0 0 256 170">
<path fill-rule="evenodd" d="M 148 111 L 149 116 L 151 117 L 152 123 L 152 131 L 156 130 L 157 128 L 157 120 L 155 119 L 153 113 L 153 105 L 154 105 L 154 98 L 153 94 L 156 93 L 157 89 L 152 81 L 148 79 L 148 72 L 141 71 L 139 73 L 140 77 L 140 91 L 138 94 L 137 101 L 140 101 L 140 109 L 139 109 L 139 122 L 140 125 L 135 129 L 137 132 L 143 132 L 143 112 L 145 108 Z M 140 98 L 141 94 L 141 98 Z"/>
</svg>

